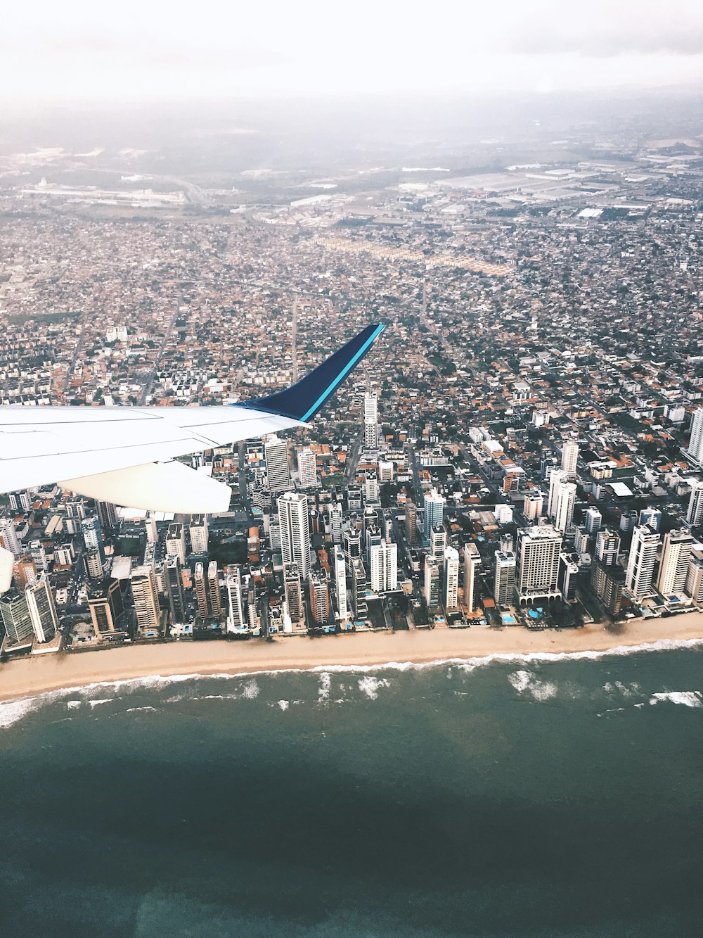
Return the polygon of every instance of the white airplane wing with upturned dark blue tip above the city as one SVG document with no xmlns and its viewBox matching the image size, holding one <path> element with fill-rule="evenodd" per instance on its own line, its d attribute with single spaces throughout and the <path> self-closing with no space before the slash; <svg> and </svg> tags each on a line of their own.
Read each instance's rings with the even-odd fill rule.
<svg viewBox="0 0 703 938">
<path fill-rule="evenodd" d="M 229 486 L 172 460 L 304 426 L 382 329 L 366 326 L 296 385 L 259 401 L 219 407 L 0 406 L 0 492 L 57 482 L 114 505 L 226 511 Z"/>
</svg>

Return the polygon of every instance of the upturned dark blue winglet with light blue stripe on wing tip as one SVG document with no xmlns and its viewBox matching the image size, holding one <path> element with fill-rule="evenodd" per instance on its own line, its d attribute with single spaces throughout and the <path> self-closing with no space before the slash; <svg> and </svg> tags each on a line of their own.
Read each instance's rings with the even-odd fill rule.
<svg viewBox="0 0 703 938">
<path fill-rule="evenodd" d="M 354 336 L 352 341 L 347 342 L 297 384 L 268 398 L 247 401 L 247 406 L 270 414 L 289 416 L 293 420 L 309 420 L 322 410 L 325 401 L 359 364 L 384 328 L 384 325 L 367 325 L 358 336 Z"/>
</svg>

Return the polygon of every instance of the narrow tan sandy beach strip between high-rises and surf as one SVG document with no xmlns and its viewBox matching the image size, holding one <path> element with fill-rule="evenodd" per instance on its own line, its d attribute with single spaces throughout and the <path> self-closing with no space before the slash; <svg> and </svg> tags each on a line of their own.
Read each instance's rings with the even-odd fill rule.
<svg viewBox="0 0 703 938">
<path fill-rule="evenodd" d="M 703 613 L 631 622 L 618 634 L 607 632 L 602 626 L 537 632 L 511 627 L 432 629 L 360 632 L 316 639 L 291 636 L 274 642 L 186 640 L 39 655 L 0 665 L 0 701 L 147 677 L 382 667 L 452 658 L 607 654 L 664 641 L 703 643 Z"/>
</svg>

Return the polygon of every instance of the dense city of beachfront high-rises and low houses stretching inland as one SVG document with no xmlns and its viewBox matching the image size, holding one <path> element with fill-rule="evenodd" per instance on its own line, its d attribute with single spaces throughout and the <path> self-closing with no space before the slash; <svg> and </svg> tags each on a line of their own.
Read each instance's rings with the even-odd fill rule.
<svg viewBox="0 0 703 938">
<path fill-rule="evenodd" d="M 224 514 L 0 496 L 3 656 L 696 610 L 702 146 L 267 203 L 3 157 L 4 404 L 255 399 L 387 325 L 308 428 L 192 457 Z"/>
</svg>

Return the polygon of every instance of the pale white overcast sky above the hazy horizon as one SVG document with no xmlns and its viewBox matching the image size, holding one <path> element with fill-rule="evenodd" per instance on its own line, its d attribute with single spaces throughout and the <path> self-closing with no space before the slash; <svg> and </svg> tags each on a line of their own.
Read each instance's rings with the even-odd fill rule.
<svg viewBox="0 0 703 938">
<path fill-rule="evenodd" d="M 33 0 L 0 21 L 16 102 L 680 83 L 703 85 L 703 0 Z"/>
</svg>

